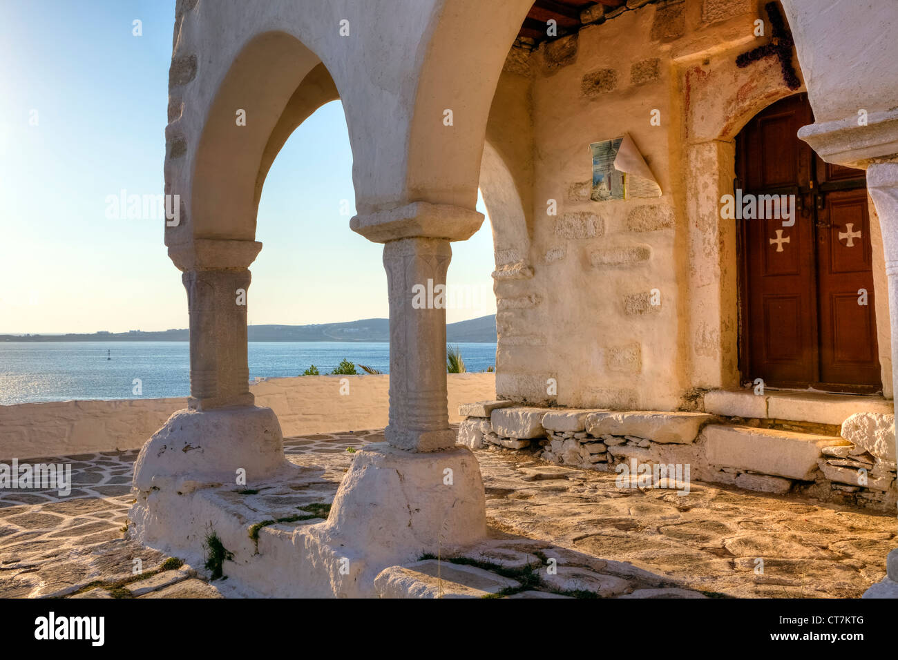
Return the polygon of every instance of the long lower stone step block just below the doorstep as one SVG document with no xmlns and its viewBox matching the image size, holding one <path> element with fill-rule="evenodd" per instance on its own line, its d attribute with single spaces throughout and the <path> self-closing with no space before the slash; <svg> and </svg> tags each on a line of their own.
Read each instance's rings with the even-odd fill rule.
<svg viewBox="0 0 898 660">
<path fill-rule="evenodd" d="M 813 480 L 823 447 L 849 444 L 838 436 L 720 424 L 705 427 L 702 434 L 710 465 L 803 481 Z"/>
</svg>

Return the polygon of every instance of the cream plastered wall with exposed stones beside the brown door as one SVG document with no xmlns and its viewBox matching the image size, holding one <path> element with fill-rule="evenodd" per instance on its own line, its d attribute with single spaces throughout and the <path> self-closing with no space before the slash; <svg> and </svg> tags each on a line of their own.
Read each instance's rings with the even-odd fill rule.
<svg viewBox="0 0 898 660">
<path fill-rule="evenodd" d="M 631 0 L 591 8 L 576 35 L 512 50 L 490 126 L 515 130 L 489 133 L 488 151 L 532 206 L 512 222 L 484 188 L 496 216 L 500 398 L 672 410 L 694 388 L 737 384 L 735 224 L 719 218 L 718 187 L 732 186 L 739 128 L 793 93 L 775 58 L 735 66 L 770 38 L 753 34 L 763 4 Z M 662 195 L 596 201 L 589 145 L 625 133 Z"/>
</svg>

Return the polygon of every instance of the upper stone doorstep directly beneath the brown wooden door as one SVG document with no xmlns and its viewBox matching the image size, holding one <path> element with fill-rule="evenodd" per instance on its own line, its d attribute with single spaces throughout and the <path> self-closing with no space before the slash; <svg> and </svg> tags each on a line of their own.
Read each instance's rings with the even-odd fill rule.
<svg viewBox="0 0 898 660">
<path fill-rule="evenodd" d="M 858 412 L 894 414 L 894 403 L 880 396 L 827 392 L 712 390 L 704 396 L 705 412 L 722 417 L 788 419 L 841 425 Z"/>
</svg>

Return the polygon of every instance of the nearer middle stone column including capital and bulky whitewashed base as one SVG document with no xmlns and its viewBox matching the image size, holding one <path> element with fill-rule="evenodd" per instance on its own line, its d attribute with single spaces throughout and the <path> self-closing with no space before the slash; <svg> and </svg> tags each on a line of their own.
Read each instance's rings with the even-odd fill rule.
<svg viewBox="0 0 898 660">
<path fill-rule="evenodd" d="M 356 216 L 349 225 L 384 244 L 390 424 L 386 442 L 356 454 L 322 533 L 339 547 L 338 557 L 348 548 L 364 555 L 365 579 L 422 551 L 472 545 L 487 533 L 480 466 L 468 447 L 454 444 L 449 428 L 445 365 L 449 242 L 470 238 L 482 222 L 471 209 L 413 202 Z"/>
</svg>

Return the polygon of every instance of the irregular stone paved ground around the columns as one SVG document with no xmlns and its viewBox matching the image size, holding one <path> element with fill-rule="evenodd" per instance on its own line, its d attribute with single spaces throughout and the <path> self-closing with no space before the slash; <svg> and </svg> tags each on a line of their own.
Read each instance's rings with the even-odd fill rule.
<svg viewBox="0 0 898 660">
<path fill-rule="evenodd" d="M 332 499 L 352 461 L 347 449 L 382 440 L 379 431 L 294 437 L 285 451 L 296 464 L 324 468 Z M 697 483 L 685 496 L 619 489 L 614 474 L 505 450 L 477 456 L 495 544 L 557 546 L 585 565 L 630 562 L 706 593 L 858 597 L 885 576 L 885 555 L 896 545 L 891 515 Z M 163 567 L 161 553 L 125 538 L 135 459 L 136 452 L 52 459 L 73 465 L 68 497 L 0 491 L 0 597 L 220 597 L 204 571 Z"/>
</svg>

